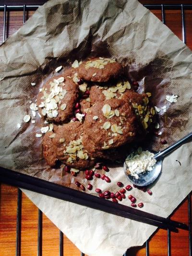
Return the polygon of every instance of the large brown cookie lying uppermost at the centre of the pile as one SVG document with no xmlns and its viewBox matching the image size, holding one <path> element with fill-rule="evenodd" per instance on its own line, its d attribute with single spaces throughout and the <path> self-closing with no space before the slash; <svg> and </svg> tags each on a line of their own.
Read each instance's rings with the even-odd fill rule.
<svg viewBox="0 0 192 256">
<path fill-rule="evenodd" d="M 83 145 L 89 153 L 118 147 L 133 141 L 136 129 L 136 115 L 129 102 L 98 102 L 85 117 Z"/>
</svg>

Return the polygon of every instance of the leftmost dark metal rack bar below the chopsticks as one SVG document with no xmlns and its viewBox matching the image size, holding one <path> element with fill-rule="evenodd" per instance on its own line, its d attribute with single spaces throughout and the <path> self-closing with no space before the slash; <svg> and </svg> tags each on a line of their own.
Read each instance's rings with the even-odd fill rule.
<svg viewBox="0 0 192 256">
<path fill-rule="evenodd" d="M 16 221 L 16 251 L 15 256 L 21 255 L 21 207 L 22 207 L 22 191 L 17 190 L 17 221 Z"/>
</svg>

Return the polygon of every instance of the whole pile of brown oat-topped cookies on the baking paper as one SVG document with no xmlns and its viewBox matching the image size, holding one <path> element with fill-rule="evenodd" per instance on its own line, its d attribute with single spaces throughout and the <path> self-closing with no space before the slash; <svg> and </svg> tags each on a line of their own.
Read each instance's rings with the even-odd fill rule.
<svg viewBox="0 0 192 256">
<path fill-rule="evenodd" d="M 98 159 L 125 158 L 127 146 L 144 139 L 155 115 L 151 94 L 133 88 L 120 63 L 101 57 L 74 61 L 48 80 L 37 97 L 41 116 L 53 123 L 43 138 L 48 165 L 60 160 L 81 170 Z"/>
</svg>

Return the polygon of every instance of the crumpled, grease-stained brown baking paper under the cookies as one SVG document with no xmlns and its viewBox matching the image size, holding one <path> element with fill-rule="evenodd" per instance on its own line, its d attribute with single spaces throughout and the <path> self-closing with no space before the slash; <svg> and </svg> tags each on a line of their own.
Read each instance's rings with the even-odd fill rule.
<svg viewBox="0 0 192 256">
<path fill-rule="evenodd" d="M 72 175 L 49 168 L 42 158 L 42 138 L 35 136 L 40 133 L 41 119 L 34 118 L 32 124 L 24 123 L 23 117 L 31 114 L 30 100 L 35 102 L 39 88 L 56 67 L 62 65 L 65 70 L 75 59 L 90 56 L 116 58 L 130 79 L 139 81 L 140 91 L 152 92 L 157 107 L 167 106 L 166 113 L 159 113 L 159 123 L 161 138 L 168 145 L 192 131 L 192 52 L 167 26 L 136 0 L 49 0 L 0 47 L 1 167 L 76 188 Z M 171 104 L 165 98 L 172 94 L 179 98 Z M 151 138 L 147 144 L 163 149 L 159 140 Z M 190 193 L 191 152 L 192 143 L 187 143 L 164 159 L 152 196 L 133 188 L 131 194 L 138 203 L 144 202 L 144 211 L 168 217 Z M 90 182 L 94 189 L 86 192 L 96 195 L 96 187 L 116 192 L 118 181 L 128 184 L 122 165 L 110 168 L 108 176 L 111 183 L 94 179 Z M 75 180 L 86 185 L 83 177 L 81 172 Z M 156 230 L 45 195 L 24 193 L 89 256 L 121 256 L 128 247 L 144 244 Z M 122 204 L 130 206 L 130 201 Z"/>
</svg>

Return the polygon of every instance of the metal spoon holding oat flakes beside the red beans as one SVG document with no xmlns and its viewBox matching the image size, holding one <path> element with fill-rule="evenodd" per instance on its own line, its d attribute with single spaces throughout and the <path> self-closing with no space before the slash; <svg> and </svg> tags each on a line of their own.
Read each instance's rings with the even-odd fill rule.
<svg viewBox="0 0 192 256">
<path fill-rule="evenodd" d="M 171 146 L 168 146 L 166 149 L 164 149 L 162 151 L 156 152 L 156 151 L 151 150 L 151 152 L 155 154 L 154 158 L 156 158 L 156 164 L 154 165 L 152 171 L 145 171 L 145 172 L 138 174 L 139 179 L 136 179 L 135 177 L 133 177 L 131 175 L 127 175 L 127 173 L 126 173 L 127 164 L 126 164 L 126 162 L 124 162 L 124 172 L 126 174 L 126 177 L 128 178 L 128 180 L 131 183 L 133 183 L 137 186 L 147 186 L 147 185 L 153 183 L 161 172 L 162 161 L 163 161 L 164 157 L 167 156 L 169 153 L 171 153 L 176 148 L 178 148 L 179 146 L 183 145 L 185 142 L 187 142 L 190 139 L 192 139 L 192 133 L 184 136 L 182 139 L 178 140 L 176 143 L 174 143 Z"/>
</svg>

